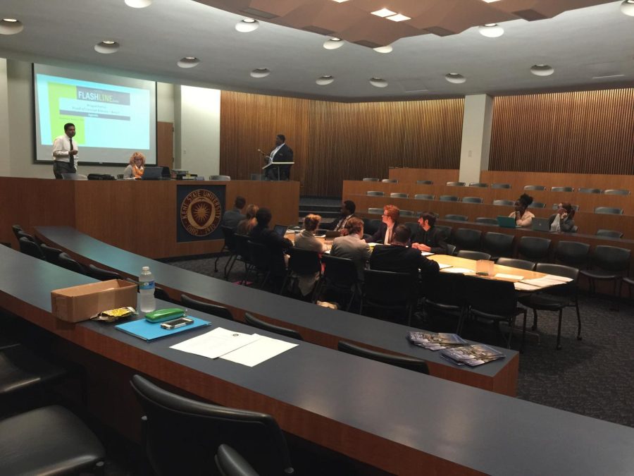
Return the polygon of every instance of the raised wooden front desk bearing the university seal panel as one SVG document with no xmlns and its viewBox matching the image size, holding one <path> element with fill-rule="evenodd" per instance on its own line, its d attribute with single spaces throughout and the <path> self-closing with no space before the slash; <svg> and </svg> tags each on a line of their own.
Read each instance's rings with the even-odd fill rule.
<svg viewBox="0 0 634 476">
<path fill-rule="evenodd" d="M 297 223 L 299 182 L 282 181 L 60 181 L 0 177 L 0 241 L 18 248 L 11 225 L 67 225 L 150 257 L 201 255 L 223 247 L 214 240 L 177 238 L 181 187 L 224 189 L 225 209 L 237 195 L 270 207 L 275 223 Z M 180 190 L 185 190 L 180 189 Z"/>
</svg>

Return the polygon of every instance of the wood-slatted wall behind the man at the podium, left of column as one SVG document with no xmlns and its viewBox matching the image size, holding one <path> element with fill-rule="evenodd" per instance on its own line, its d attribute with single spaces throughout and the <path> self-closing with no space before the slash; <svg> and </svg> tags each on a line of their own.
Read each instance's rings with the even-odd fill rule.
<svg viewBox="0 0 634 476">
<path fill-rule="evenodd" d="M 343 180 L 388 176 L 390 166 L 458 169 L 464 99 L 340 103 L 223 91 L 220 173 L 259 173 L 275 135 L 294 151 L 302 195 L 339 197 Z"/>
</svg>

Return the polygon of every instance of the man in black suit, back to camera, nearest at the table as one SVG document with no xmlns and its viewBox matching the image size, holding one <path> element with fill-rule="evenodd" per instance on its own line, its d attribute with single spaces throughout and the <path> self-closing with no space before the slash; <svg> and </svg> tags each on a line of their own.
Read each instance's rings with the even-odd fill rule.
<svg viewBox="0 0 634 476">
<path fill-rule="evenodd" d="M 411 231 L 405 225 L 394 228 L 394 238 L 391 246 L 375 246 L 370 257 L 370 269 L 380 271 L 394 271 L 397 273 L 433 276 L 440 271 L 438 263 L 428 260 L 421 252 L 414 248 L 407 248 Z"/>
</svg>

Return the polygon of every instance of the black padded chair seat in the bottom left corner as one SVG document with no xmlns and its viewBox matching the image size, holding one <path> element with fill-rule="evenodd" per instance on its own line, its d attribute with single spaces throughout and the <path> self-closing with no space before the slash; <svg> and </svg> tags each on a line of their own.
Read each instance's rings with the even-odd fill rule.
<svg viewBox="0 0 634 476">
<path fill-rule="evenodd" d="M 99 439 L 58 405 L 0 421 L 0 453 L 2 475 L 78 475 L 106 456 Z"/>
</svg>

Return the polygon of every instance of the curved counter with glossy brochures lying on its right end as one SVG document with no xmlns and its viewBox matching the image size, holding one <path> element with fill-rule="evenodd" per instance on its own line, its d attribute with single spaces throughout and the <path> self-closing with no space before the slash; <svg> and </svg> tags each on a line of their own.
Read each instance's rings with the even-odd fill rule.
<svg viewBox="0 0 634 476">
<path fill-rule="evenodd" d="M 514 350 L 499 348 L 506 358 L 480 367 L 456 367 L 437 353 L 409 343 L 406 335 L 413 329 L 411 327 L 237 286 L 120 250 L 67 226 L 37 226 L 36 232 L 44 243 L 66 250 L 80 262 L 112 269 L 133 279 L 137 278 L 141 267 L 149 266 L 157 285 L 177 300 L 185 293 L 229 307 L 238 319 L 244 319 L 244 312 L 249 312 L 268 322 L 296 329 L 306 341 L 321 346 L 337 348 L 337 343 L 344 340 L 390 353 L 411 355 L 426 360 L 435 377 L 516 395 L 519 356 Z"/>
</svg>

